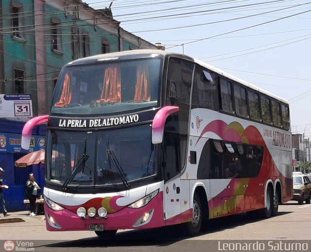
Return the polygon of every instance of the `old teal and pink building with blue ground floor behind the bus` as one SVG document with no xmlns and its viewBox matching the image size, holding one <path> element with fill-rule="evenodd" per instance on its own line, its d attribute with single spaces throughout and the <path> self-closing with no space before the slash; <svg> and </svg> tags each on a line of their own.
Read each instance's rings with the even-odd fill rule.
<svg viewBox="0 0 311 252">
<path fill-rule="evenodd" d="M 31 94 L 34 117 L 46 115 L 59 72 L 68 62 L 101 53 L 161 48 L 122 29 L 110 7 L 95 10 L 81 0 L 0 0 L 0 94 Z M 9 211 L 25 209 L 29 172 L 35 173 L 42 188 L 44 184 L 42 164 L 14 166 L 29 152 L 20 148 L 28 119 L 4 118 L 0 111 L 0 166 L 9 185 L 5 191 Z M 34 130 L 30 151 L 44 149 L 45 133 L 44 125 Z"/>
</svg>

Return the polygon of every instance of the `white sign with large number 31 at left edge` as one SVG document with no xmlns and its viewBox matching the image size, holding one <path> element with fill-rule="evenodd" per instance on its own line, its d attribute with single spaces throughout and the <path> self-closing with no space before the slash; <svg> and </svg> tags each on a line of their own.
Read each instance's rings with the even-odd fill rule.
<svg viewBox="0 0 311 252">
<path fill-rule="evenodd" d="M 31 95 L 0 95 L 0 118 L 17 117 L 33 117 Z"/>
</svg>

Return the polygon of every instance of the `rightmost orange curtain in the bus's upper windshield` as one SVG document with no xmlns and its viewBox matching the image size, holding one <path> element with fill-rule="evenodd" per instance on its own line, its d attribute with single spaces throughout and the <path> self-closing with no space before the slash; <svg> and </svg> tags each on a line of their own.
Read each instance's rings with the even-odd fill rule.
<svg viewBox="0 0 311 252">
<path fill-rule="evenodd" d="M 136 71 L 137 83 L 135 87 L 134 100 L 150 101 L 150 88 L 148 85 L 149 71 L 146 65 L 139 65 Z"/>
</svg>

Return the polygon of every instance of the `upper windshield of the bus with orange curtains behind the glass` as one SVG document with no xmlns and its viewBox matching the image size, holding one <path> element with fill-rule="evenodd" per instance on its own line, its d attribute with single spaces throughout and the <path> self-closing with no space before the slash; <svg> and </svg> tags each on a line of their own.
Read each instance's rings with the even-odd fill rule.
<svg viewBox="0 0 311 252">
<path fill-rule="evenodd" d="M 51 112 L 95 115 L 157 106 L 161 64 L 152 58 L 64 67 Z"/>
</svg>

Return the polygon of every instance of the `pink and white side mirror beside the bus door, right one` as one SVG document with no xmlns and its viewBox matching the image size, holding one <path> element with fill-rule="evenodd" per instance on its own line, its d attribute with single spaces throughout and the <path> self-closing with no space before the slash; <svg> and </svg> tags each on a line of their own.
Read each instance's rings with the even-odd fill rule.
<svg viewBox="0 0 311 252">
<path fill-rule="evenodd" d="M 166 106 L 166 107 L 161 108 L 158 112 L 156 112 L 154 121 L 152 122 L 152 143 L 153 144 L 162 143 L 166 118 L 168 118 L 169 115 L 177 111 L 179 111 L 179 107 Z"/>
</svg>

